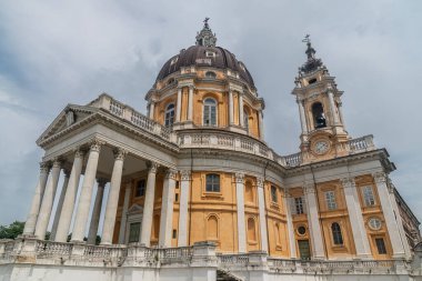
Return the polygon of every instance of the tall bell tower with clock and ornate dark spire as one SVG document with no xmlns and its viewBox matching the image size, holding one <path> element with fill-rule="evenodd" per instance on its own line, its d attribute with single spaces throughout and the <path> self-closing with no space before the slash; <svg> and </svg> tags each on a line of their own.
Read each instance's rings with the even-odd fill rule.
<svg viewBox="0 0 422 281">
<path fill-rule="evenodd" d="M 299 68 L 295 88 L 301 120 L 301 151 L 303 161 L 314 162 L 344 154 L 343 144 L 349 140 L 341 112 L 343 91 L 336 88 L 321 59 L 315 58 L 309 34 L 303 39 L 307 43 L 307 61 Z"/>
</svg>

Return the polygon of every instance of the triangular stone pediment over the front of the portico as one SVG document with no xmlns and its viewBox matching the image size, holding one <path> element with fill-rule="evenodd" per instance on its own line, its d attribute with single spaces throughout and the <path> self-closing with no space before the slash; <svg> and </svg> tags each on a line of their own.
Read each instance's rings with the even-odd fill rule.
<svg viewBox="0 0 422 281">
<path fill-rule="evenodd" d="M 96 110 L 96 108 L 89 106 L 81 107 L 68 104 L 37 140 L 37 144 L 40 144 L 52 136 L 80 123 L 82 120 L 93 114 Z"/>
</svg>

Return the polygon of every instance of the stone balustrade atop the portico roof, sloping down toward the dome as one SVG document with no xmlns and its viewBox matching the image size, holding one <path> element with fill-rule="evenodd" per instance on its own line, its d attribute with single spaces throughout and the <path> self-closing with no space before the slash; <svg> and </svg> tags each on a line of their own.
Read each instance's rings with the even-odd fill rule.
<svg viewBox="0 0 422 281">
<path fill-rule="evenodd" d="M 135 111 L 133 108 L 113 99 L 107 93 L 102 93 L 97 100 L 92 101 L 88 106 L 94 108 L 101 108 L 113 116 L 122 118 L 133 126 L 145 130 L 152 134 L 157 134 L 167 141 L 175 143 L 175 133 L 164 126 L 149 119 L 144 114 Z"/>
</svg>

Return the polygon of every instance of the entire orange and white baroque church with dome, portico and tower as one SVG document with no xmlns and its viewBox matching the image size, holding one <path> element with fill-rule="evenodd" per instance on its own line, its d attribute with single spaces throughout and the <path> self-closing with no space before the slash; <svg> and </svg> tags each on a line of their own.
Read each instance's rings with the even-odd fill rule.
<svg viewBox="0 0 422 281">
<path fill-rule="evenodd" d="M 264 99 L 208 20 L 162 67 L 145 116 L 107 93 L 68 104 L 37 141 L 39 181 L 23 234 L 0 241 L 0 280 L 419 280 L 420 222 L 394 163 L 349 136 L 343 92 L 304 41 L 295 154 L 265 143 Z"/>
</svg>

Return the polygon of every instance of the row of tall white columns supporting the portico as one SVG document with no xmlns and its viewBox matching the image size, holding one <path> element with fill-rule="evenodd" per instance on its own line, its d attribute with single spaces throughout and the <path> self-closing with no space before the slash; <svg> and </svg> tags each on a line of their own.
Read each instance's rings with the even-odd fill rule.
<svg viewBox="0 0 422 281">
<path fill-rule="evenodd" d="M 71 232 L 71 242 L 83 242 L 84 234 L 88 231 L 88 243 L 94 244 L 97 232 L 99 228 L 100 213 L 102 208 L 104 187 L 108 182 L 107 179 L 98 178 L 98 190 L 92 209 L 92 215 L 89 222 L 89 211 L 91 209 L 91 200 L 93 195 L 94 182 L 99 164 L 99 157 L 101 147 L 104 143 L 94 140 L 90 143 L 89 150 L 77 149 L 74 151 L 74 159 L 71 172 L 64 170 L 63 187 L 58 199 L 57 210 L 52 223 L 50 240 L 56 242 L 67 242 L 69 232 Z M 105 203 L 103 229 L 101 234 L 101 244 L 108 245 L 112 243 L 115 217 L 119 203 L 120 185 L 123 173 L 123 163 L 127 151 L 120 148 L 113 150 L 114 162 L 110 179 L 110 188 L 108 200 Z M 83 159 L 88 157 L 88 162 L 84 169 L 83 182 L 81 184 L 78 204 L 76 202 L 78 194 L 78 187 L 82 174 Z M 153 214 L 153 199 L 155 188 L 155 174 L 158 169 L 157 163 L 149 163 L 148 184 L 145 194 L 145 204 L 142 217 L 142 233 L 140 237 L 141 242 L 147 245 L 150 244 L 152 214 Z M 32 203 L 28 219 L 24 225 L 23 235 L 36 237 L 43 240 L 46 238 L 47 229 L 52 214 L 52 207 L 56 198 L 56 191 L 60 178 L 61 170 L 63 170 L 63 161 L 54 159 L 52 162 L 43 162 L 40 165 L 39 181 L 36 187 L 36 192 L 32 198 Z M 172 218 L 172 203 L 174 197 L 175 185 L 175 171 L 168 169 L 163 189 L 163 207 L 161 212 L 161 230 L 160 230 L 160 245 L 171 247 L 171 218 Z M 127 188 L 124 195 L 123 208 L 128 209 L 130 199 L 131 187 Z M 76 205 L 78 207 L 74 210 Z M 71 221 L 74 212 L 73 228 L 71 229 Z M 122 224 L 125 224 L 124 221 Z M 120 233 L 124 232 L 120 230 Z M 162 237 L 161 237 L 162 235 Z M 119 243 L 124 243 L 122 234 L 119 235 Z"/>
</svg>

